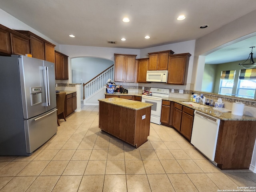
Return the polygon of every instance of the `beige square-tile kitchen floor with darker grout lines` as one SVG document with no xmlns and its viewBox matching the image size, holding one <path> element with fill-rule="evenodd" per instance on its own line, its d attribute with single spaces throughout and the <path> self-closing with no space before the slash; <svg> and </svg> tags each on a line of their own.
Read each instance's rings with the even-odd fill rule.
<svg viewBox="0 0 256 192">
<path fill-rule="evenodd" d="M 217 192 L 256 186 L 249 170 L 222 171 L 167 126 L 150 124 L 138 149 L 98 128 L 84 106 L 31 156 L 0 156 L 0 192 Z"/>
</svg>

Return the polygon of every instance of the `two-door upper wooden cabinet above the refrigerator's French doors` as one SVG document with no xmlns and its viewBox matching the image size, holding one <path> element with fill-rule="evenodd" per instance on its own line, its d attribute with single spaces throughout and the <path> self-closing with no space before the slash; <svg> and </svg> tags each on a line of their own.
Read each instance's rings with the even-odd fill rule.
<svg viewBox="0 0 256 192">
<path fill-rule="evenodd" d="M 30 31 L 16 30 L 16 32 L 30 38 L 30 53 L 32 57 L 54 63 L 54 44 Z"/>
</svg>

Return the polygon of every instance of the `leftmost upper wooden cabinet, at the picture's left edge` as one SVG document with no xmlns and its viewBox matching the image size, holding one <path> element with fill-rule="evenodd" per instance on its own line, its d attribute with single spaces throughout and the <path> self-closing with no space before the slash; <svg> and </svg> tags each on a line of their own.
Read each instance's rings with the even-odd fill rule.
<svg viewBox="0 0 256 192">
<path fill-rule="evenodd" d="M 0 24 L 0 55 L 25 55 L 30 53 L 29 38 Z"/>
</svg>

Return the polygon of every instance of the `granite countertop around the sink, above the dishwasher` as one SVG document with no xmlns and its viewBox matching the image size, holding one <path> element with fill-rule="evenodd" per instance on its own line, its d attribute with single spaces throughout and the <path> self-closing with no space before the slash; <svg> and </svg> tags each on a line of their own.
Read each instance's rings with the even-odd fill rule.
<svg viewBox="0 0 256 192">
<path fill-rule="evenodd" d="M 208 114 L 210 116 L 219 118 L 220 120 L 256 121 L 255 117 L 250 117 L 250 116 L 247 116 L 247 115 L 243 115 L 243 116 L 233 115 L 233 114 L 231 114 L 231 112 L 221 112 L 221 111 L 218 111 L 218 110 L 214 110 L 213 107 L 210 107 L 210 106 L 207 106 L 207 105 L 204 105 L 204 106 L 207 106 L 207 107 L 200 108 L 200 107 L 194 107 L 194 106 L 182 103 L 182 102 L 192 102 L 188 99 L 166 97 L 166 98 L 163 98 L 162 100 L 176 102 L 176 103 L 184 105 L 188 108 L 192 108 L 194 110 L 200 111 L 200 112 Z"/>
</svg>

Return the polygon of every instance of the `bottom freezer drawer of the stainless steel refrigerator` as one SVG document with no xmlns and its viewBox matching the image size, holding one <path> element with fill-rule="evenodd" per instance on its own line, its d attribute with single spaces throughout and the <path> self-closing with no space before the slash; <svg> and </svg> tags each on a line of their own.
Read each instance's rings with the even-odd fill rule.
<svg viewBox="0 0 256 192">
<path fill-rule="evenodd" d="M 42 146 L 57 132 L 57 110 L 54 108 L 35 118 L 24 120 L 27 154 Z"/>
</svg>

